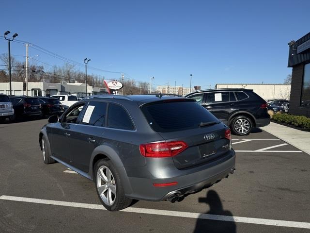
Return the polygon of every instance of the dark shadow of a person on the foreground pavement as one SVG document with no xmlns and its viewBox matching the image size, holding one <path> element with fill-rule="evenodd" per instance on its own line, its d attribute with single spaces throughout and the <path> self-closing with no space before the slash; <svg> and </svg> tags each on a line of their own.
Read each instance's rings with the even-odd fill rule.
<svg viewBox="0 0 310 233">
<path fill-rule="evenodd" d="M 222 202 L 216 191 L 210 190 L 206 198 L 199 198 L 200 203 L 210 206 L 207 215 L 233 216 L 232 212 L 223 210 Z M 200 217 L 204 217 L 202 214 Z M 218 221 L 199 218 L 196 222 L 194 233 L 235 233 L 236 224 L 234 221 Z"/>
</svg>

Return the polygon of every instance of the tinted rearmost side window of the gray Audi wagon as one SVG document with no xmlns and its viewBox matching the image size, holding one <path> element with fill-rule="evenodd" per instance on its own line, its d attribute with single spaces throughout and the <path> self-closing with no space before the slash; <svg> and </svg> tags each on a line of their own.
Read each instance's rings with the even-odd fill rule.
<svg viewBox="0 0 310 233">
<path fill-rule="evenodd" d="M 117 104 L 109 104 L 108 127 L 121 130 L 135 129 L 126 110 Z"/>
</svg>

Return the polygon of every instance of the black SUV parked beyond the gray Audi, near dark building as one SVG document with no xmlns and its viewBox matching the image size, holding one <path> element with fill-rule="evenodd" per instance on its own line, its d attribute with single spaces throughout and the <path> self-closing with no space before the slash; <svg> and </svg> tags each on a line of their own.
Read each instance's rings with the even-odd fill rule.
<svg viewBox="0 0 310 233">
<path fill-rule="evenodd" d="M 244 88 L 201 90 L 186 95 L 195 99 L 224 124 L 232 133 L 247 135 L 253 127 L 270 123 L 267 103 L 253 90 Z"/>
</svg>

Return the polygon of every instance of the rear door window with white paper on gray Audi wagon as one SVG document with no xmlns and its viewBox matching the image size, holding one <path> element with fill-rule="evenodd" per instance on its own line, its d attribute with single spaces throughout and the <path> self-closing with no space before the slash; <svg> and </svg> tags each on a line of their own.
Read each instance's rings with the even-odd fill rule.
<svg viewBox="0 0 310 233">
<path fill-rule="evenodd" d="M 106 110 L 106 102 L 91 101 L 86 108 L 80 124 L 105 127 Z"/>
</svg>

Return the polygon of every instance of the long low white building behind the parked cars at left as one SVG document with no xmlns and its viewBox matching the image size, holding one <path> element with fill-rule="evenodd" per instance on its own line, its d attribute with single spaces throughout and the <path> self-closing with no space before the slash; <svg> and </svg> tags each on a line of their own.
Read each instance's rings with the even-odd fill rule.
<svg viewBox="0 0 310 233">
<path fill-rule="evenodd" d="M 26 96 L 53 96 L 53 95 L 75 95 L 78 98 L 85 96 L 85 83 L 48 83 L 48 82 L 29 82 L 28 93 L 25 83 L 12 82 L 12 95 Z M 0 83 L 0 93 L 10 94 L 10 83 Z M 107 94 L 106 87 L 93 87 L 87 84 L 87 94 Z"/>
</svg>

